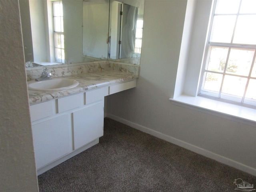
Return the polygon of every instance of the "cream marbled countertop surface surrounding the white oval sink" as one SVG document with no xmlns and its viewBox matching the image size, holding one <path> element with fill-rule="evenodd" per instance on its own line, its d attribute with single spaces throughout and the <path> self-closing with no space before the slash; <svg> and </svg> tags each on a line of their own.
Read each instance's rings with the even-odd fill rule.
<svg viewBox="0 0 256 192">
<path fill-rule="evenodd" d="M 62 78 L 71 78 L 79 82 L 78 86 L 62 91 L 35 91 L 28 90 L 29 104 L 36 104 L 62 96 L 68 96 L 79 92 L 85 92 L 102 86 L 109 86 L 121 82 L 128 82 L 138 78 L 136 74 L 128 74 L 118 70 L 104 70 L 100 72 L 76 74 L 63 76 Z M 50 80 L 49 80 L 50 81 Z"/>
</svg>

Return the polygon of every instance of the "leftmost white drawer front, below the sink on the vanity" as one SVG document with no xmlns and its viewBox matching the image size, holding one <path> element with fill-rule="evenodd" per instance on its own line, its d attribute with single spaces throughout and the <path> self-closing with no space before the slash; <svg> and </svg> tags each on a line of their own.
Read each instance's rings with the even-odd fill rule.
<svg viewBox="0 0 256 192">
<path fill-rule="evenodd" d="M 31 122 L 53 115 L 54 102 L 46 101 L 30 106 Z"/>
</svg>

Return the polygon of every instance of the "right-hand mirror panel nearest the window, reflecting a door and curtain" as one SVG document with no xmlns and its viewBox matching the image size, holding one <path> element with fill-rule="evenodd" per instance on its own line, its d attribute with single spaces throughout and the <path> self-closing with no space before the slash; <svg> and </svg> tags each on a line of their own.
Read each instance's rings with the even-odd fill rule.
<svg viewBox="0 0 256 192">
<path fill-rule="evenodd" d="M 144 0 L 110 0 L 108 57 L 140 64 Z"/>
</svg>

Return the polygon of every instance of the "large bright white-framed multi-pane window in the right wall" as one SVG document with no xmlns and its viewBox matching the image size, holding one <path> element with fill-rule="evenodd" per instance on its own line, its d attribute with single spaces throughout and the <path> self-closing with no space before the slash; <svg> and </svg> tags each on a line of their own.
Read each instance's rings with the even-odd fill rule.
<svg viewBox="0 0 256 192">
<path fill-rule="evenodd" d="M 215 1 L 200 96 L 256 106 L 255 7 L 256 0 Z"/>
</svg>

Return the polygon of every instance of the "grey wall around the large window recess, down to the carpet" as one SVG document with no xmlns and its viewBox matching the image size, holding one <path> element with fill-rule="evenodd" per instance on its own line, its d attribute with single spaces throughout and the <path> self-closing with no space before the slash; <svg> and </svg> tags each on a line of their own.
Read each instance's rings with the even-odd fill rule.
<svg viewBox="0 0 256 192">
<path fill-rule="evenodd" d="M 189 2 L 190 3 L 190 2 Z M 106 98 L 107 116 L 256 175 L 256 125 L 172 104 L 186 0 L 146 0 L 137 87 Z"/>
</svg>

